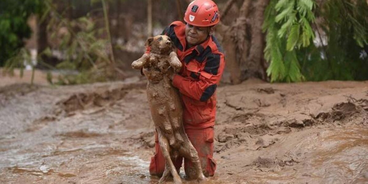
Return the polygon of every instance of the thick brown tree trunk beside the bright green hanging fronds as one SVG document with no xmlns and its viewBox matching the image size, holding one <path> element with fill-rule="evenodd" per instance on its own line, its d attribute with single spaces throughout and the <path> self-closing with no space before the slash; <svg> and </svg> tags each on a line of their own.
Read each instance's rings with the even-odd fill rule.
<svg viewBox="0 0 368 184">
<path fill-rule="evenodd" d="M 227 2 L 225 13 L 232 3 L 233 0 Z M 244 0 L 239 16 L 229 26 L 217 26 L 223 37 L 227 72 L 230 73 L 232 84 L 239 84 L 251 77 L 267 79 L 262 24 L 263 12 L 268 3 L 269 0 Z"/>
</svg>

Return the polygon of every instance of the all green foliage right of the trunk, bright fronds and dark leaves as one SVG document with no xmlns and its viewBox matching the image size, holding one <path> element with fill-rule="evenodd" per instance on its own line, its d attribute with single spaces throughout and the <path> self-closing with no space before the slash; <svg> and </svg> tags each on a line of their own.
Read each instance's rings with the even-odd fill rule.
<svg viewBox="0 0 368 184">
<path fill-rule="evenodd" d="M 271 82 L 367 80 L 367 17 L 362 0 L 271 0 L 263 24 Z"/>
</svg>

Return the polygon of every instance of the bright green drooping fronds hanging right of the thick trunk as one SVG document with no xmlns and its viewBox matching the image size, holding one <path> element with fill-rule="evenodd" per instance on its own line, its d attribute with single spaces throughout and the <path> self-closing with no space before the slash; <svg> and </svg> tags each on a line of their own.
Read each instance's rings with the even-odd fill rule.
<svg viewBox="0 0 368 184">
<path fill-rule="evenodd" d="M 271 82 L 304 80 L 296 49 L 307 47 L 314 39 L 311 22 L 313 0 L 271 0 L 265 10 L 265 59 L 270 62 L 267 74 Z"/>
</svg>

